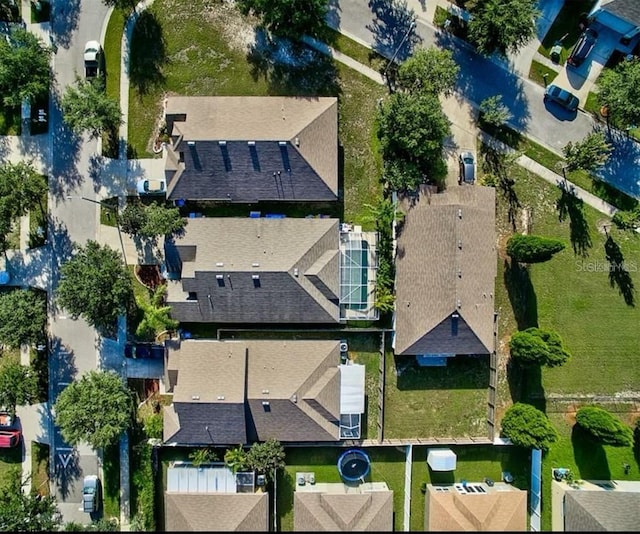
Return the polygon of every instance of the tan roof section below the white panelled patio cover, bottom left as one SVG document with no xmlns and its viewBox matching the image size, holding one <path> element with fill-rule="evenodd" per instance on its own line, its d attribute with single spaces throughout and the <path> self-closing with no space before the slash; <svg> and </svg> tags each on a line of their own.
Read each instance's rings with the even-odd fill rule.
<svg viewBox="0 0 640 534">
<path fill-rule="evenodd" d="M 164 494 L 167 532 L 267 532 L 267 493 Z"/>
</svg>

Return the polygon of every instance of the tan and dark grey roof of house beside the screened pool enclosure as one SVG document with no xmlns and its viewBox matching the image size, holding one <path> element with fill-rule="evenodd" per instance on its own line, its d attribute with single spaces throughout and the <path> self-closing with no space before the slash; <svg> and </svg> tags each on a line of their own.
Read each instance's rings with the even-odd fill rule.
<svg viewBox="0 0 640 534">
<path fill-rule="evenodd" d="M 339 240 L 338 219 L 190 219 L 184 235 L 165 240 L 169 269 L 181 277 L 167 285 L 171 315 L 181 322 L 339 322 Z"/>
</svg>

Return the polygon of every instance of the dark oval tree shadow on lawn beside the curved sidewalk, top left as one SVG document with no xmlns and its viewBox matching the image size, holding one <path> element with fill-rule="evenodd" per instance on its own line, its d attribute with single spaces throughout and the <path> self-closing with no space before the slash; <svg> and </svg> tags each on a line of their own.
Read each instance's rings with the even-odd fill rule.
<svg viewBox="0 0 640 534">
<path fill-rule="evenodd" d="M 138 16 L 129 49 L 129 79 L 141 95 L 164 83 L 167 44 L 155 15 L 143 11 Z"/>
</svg>

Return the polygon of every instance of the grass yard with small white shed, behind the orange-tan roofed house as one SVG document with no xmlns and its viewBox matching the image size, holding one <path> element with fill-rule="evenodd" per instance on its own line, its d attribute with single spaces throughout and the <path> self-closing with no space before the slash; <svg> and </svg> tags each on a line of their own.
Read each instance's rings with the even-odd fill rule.
<svg viewBox="0 0 640 534">
<path fill-rule="evenodd" d="M 456 453 L 455 472 L 437 472 L 427 465 L 428 447 L 413 447 L 411 469 L 411 530 L 424 531 L 424 493 L 420 484 L 444 484 L 467 480 L 483 482 L 485 478 L 500 481 L 502 471 L 514 476 L 513 485 L 528 489 L 531 479 L 529 451 L 518 447 L 494 447 L 490 445 L 450 447 Z M 550 529 L 549 529 L 550 530 Z"/>
</svg>

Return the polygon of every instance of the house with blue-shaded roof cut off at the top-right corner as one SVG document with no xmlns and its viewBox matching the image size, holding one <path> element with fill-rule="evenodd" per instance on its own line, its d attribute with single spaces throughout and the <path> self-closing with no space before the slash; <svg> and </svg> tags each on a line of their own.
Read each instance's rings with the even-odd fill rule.
<svg viewBox="0 0 640 534">
<path fill-rule="evenodd" d="M 633 49 L 640 39 L 640 2 L 637 0 L 598 0 L 589 16 L 596 23 L 595 27 L 599 25 L 617 34 L 622 47 L 616 48 Z"/>
</svg>

